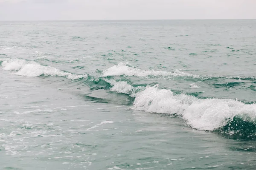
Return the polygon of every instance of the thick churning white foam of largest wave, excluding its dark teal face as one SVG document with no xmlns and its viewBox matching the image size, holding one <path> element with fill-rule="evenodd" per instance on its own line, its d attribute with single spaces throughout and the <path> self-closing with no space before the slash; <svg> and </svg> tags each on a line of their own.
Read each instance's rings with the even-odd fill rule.
<svg viewBox="0 0 256 170">
<path fill-rule="evenodd" d="M 151 113 L 180 115 L 198 130 L 216 130 L 230 123 L 234 116 L 244 121 L 256 121 L 256 104 L 245 105 L 233 99 L 198 99 L 185 94 L 148 87 L 136 94 L 134 108 Z"/>
</svg>

